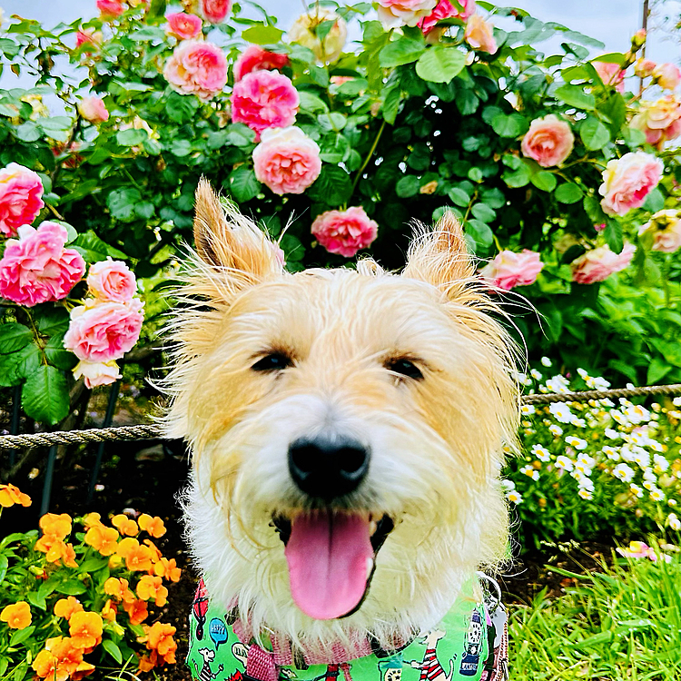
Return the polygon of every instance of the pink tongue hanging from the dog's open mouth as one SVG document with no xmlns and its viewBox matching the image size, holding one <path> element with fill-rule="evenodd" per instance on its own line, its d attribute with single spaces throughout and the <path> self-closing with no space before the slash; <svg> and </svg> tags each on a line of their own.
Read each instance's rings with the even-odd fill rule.
<svg viewBox="0 0 681 681">
<path fill-rule="evenodd" d="M 342 617 L 357 607 L 367 587 L 368 558 L 373 558 L 369 518 L 301 513 L 291 523 L 284 553 L 296 605 L 315 619 Z"/>
</svg>

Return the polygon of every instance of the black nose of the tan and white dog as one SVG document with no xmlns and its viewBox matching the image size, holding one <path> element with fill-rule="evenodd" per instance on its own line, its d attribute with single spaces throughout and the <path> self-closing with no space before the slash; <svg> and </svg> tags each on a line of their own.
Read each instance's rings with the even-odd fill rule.
<svg viewBox="0 0 681 681">
<path fill-rule="evenodd" d="M 357 489 L 369 459 L 369 449 L 354 439 L 301 438 L 289 447 L 293 482 L 311 497 L 326 501 Z"/>
</svg>

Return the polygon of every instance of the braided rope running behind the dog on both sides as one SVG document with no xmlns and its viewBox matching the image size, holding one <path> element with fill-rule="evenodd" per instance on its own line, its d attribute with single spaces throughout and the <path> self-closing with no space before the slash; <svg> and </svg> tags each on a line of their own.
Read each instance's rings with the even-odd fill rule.
<svg viewBox="0 0 681 681">
<path fill-rule="evenodd" d="M 640 388 L 614 388 L 610 390 L 580 390 L 579 392 L 548 392 L 523 395 L 522 404 L 551 404 L 553 402 L 588 402 L 609 398 L 648 397 L 650 395 L 681 394 L 681 383 L 642 386 Z M 161 426 L 114 426 L 84 430 L 54 430 L 25 435 L 1 435 L 0 449 L 31 449 L 52 445 L 73 445 L 81 442 L 111 442 L 123 440 L 163 438 Z"/>
</svg>

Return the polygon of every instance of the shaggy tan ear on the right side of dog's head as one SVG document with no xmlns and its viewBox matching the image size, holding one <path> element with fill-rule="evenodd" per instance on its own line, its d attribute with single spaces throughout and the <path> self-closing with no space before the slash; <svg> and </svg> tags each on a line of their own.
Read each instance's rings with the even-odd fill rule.
<svg viewBox="0 0 681 681">
<path fill-rule="evenodd" d="M 446 212 L 432 231 L 421 229 L 414 235 L 402 276 L 428 281 L 451 299 L 474 272 L 461 225 Z"/>
</svg>

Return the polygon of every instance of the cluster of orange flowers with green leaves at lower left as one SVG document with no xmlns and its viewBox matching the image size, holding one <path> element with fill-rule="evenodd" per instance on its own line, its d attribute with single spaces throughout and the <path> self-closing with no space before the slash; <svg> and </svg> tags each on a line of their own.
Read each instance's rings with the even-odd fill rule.
<svg viewBox="0 0 681 681">
<path fill-rule="evenodd" d="M 0 486 L 0 500 L 3 507 L 30 504 L 12 485 Z M 181 577 L 174 558 L 164 558 L 152 539 L 140 537 L 163 537 L 163 520 L 119 514 L 112 527 L 91 513 L 76 523 L 84 535 L 74 533 L 70 516 L 47 514 L 40 519 L 41 538 L 35 532 L 13 535 L 0 549 L 7 558 L 0 644 L 12 638 L 8 651 L 5 642 L 10 666 L 27 659 L 37 678 L 78 681 L 107 654 L 136 655 L 141 671 L 173 664 L 175 628 L 158 620 L 145 624 L 150 607 L 166 604 L 165 584 Z M 139 644 L 144 646 L 136 652 Z"/>
</svg>

